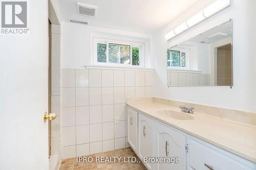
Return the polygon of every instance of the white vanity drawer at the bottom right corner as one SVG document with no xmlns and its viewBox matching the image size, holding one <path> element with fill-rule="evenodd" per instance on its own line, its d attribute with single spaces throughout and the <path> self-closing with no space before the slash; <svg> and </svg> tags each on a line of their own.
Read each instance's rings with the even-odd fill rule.
<svg viewBox="0 0 256 170">
<path fill-rule="evenodd" d="M 203 144 L 189 139 L 189 166 L 201 170 L 246 170 L 247 167 L 224 156 L 214 150 L 205 147 Z"/>
</svg>

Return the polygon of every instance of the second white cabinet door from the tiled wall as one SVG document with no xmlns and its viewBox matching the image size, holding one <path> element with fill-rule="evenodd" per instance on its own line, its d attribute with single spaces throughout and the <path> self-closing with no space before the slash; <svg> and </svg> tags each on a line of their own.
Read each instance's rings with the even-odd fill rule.
<svg viewBox="0 0 256 170">
<path fill-rule="evenodd" d="M 154 156 L 154 120 L 144 116 L 139 113 L 139 147 L 138 156 L 143 161 L 143 157 L 153 157 Z M 146 163 L 147 169 L 153 169 L 152 163 Z"/>
</svg>

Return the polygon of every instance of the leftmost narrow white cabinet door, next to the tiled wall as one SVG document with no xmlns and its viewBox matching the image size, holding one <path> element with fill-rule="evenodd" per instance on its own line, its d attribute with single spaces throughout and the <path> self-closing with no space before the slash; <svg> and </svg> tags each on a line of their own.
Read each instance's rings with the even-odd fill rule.
<svg viewBox="0 0 256 170">
<path fill-rule="evenodd" d="M 127 108 L 127 140 L 134 152 L 137 152 L 138 139 L 138 112 Z"/>
</svg>

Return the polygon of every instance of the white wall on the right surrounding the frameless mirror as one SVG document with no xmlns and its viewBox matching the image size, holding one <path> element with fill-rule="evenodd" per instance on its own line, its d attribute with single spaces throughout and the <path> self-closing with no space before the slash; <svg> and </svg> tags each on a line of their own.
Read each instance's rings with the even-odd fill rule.
<svg viewBox="0 0 256 170">
<path fill-rule="evenodd" d="M 206 19 L 194 28 L 170 41 L 164 35 L 203 9 L 207 1 L 199 1 L 178 18 L 153 35 L 154 64 L 156 69 L 155 96 L 185 102 L 193 102 L 239 110 L 256 111 L 256 57 L 253 55 L 256 44 L 254 28 L 256 15 L 254 0 L 233 0 L 231 6 Z M 167 87 L 166 49 L 186 39 L 211 29 L 218 24 L 233 19 L 233 82 L 230 87 Z M 248 62 L 249 61 L 249 62 Z"/>
</svg>

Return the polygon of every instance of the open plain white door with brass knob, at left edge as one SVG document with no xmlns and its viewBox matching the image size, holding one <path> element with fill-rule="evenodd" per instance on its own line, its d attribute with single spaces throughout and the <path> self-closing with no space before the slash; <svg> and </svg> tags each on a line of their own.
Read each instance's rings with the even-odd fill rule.
<svg viewBox="0 0 256 170">
<path fill-rule="evenodd" d="M 48 169 L 48 1 L 28 1 L 28 28 L 0 35 L 0 169 Z"/>
</svg>

